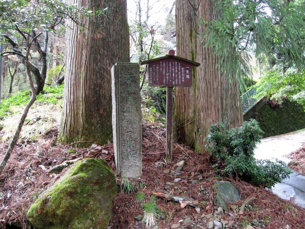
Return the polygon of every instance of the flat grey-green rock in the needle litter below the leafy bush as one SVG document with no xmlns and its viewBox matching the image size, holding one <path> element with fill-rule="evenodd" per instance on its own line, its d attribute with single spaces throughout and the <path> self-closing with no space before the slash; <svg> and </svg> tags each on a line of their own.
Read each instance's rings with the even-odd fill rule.
<svg viewBox="0 0 305 229">
<path fill-rule="evenodd" d="M 229 211 L 226 202 L 233 203 L 240 200 L 238 190 L 229 181 L 217 182 L 214 186 L 217 189 L 216 203 L 225 211 Z"/>
</svg>

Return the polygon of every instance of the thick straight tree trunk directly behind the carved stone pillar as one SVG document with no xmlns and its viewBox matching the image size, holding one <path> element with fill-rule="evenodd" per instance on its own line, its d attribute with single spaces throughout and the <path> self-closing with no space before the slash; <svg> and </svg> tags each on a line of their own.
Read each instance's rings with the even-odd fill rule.
<svg viewBox="0 0 305 229">
<path fill-rule="evenodd" d="M 66 69 L 60 142 L 112 139 L 111 67 L 129 62 L 126 0 L 69 0 L 106 16 L 86 21 L 86 28 L 67 22 Z"/>
</svg>

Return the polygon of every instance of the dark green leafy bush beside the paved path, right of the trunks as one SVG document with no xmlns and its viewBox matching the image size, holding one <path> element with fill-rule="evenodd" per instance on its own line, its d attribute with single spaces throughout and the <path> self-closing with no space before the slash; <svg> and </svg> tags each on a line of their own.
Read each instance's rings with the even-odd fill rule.
<svg viewBox="0 0 305 229">
<path fill-rule="evenodd" d="M 261 187 L 271 188 L 286 179 L 291 170 L 282 161 L 256 160 L 254 149 L 263 131 L 256 120 L 228 130 L 223 123 L 209 129 L 207 148 L 216 159 L 214 168 L 222 176 L 240 177 Z"/>
</svg>

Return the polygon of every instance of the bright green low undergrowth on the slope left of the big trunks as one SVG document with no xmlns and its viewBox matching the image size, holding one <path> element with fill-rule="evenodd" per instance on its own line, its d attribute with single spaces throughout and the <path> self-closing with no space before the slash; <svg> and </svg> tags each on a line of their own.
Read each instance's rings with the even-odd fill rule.
<svg viewBox="0 0 305 229">
<path fill-rule="evenodd" d="M 56 104 L 58 100 L 62 100 L 64 85 L 50 85 L 44 88 L 43 93 L 37 96 L 35 103 Z M 0 118 L 5 118 L 14 113 L 12 107 L 26 105 L 29 101 L 29 91 L 16 93 L 4 99 L 0 105 Z"/>
</svg>

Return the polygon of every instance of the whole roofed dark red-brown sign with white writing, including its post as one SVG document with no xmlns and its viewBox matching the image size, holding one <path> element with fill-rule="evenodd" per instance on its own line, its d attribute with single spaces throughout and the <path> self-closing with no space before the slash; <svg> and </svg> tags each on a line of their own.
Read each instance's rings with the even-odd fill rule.
<svg viewBox="0 0 305 229">
<path fill-rule="evenodd" d="M 174 50 L 148 64 L 148 86 L 166 88 L 166 161 L 172 161 L 173 87 L 192 87 L 193 67 L 200 64 L 175 55 Z"/>
</svg>

